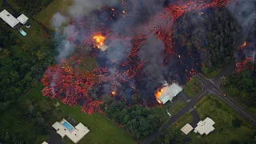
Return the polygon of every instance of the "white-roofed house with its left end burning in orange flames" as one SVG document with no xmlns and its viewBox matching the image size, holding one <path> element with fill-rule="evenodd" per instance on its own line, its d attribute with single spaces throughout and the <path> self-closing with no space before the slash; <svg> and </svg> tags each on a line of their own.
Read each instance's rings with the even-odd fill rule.
<svg viewBox="0 0 256 144">
<path fill-rule="evenodd" d="M 181 91 L 182 87 L 178 86 L 178 84 L 172 83 L 171 85 L 168 85 L 166 83 L 164 84 L 164 87 L 155 94 L 155 97 L 159 103 L 165 104 L 168 101 L 172 101 Z"/>
</svg>

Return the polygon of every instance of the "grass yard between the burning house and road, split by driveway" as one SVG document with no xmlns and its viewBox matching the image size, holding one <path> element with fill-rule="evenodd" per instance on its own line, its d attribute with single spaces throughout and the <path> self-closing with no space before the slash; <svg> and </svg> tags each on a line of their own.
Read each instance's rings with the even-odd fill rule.
<svg viewBox="0 0 256 144">
<path fill-rule="evenodd" d="M 180 102 L 180 101 L 176 102 L 174 106 L 170 107 L 169 109 L 170 114 L 176 114 L 185 105 L 186 105 L 186 102 Z M 158 114 L 158 117 L 161 119 L 162 124 L 166 123 L 170 119 L 170 116 L 166 113 L 166 108 L 168 106 L 170 106 L 170 102 L 166 102 L 165 105 L 152 108 L 154 113 Z"/>
</svg>

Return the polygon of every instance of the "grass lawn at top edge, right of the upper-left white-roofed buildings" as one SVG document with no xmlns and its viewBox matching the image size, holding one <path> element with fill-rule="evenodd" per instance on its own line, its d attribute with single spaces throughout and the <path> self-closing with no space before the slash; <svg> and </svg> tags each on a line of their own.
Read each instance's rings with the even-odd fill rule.
<svg viewBox="0 0 256 144">
<path fill-rule="evenodd" d="M 50 20 L 57 12 L 66 14 L 67 7 L 72 5 L 73 0 L 54 0 L 45 9 L 40 11 L 36 18 L 47 27 L 50 27 Z"/>
</svg>

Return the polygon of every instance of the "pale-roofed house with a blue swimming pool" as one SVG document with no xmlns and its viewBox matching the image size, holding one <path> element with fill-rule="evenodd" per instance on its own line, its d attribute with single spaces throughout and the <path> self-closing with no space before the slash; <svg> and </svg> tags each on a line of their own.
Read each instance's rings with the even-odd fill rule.
<svg viewBox="0 0 256 144">
<path fill-rule="evenodd" d="M 62 138 L 67 136 L 74 143 L 78 143 L 90 131 L 81 122 L 74 127 L 64 118 L 62 122 L 55 122 L 52 126 Z"/>
</svg>

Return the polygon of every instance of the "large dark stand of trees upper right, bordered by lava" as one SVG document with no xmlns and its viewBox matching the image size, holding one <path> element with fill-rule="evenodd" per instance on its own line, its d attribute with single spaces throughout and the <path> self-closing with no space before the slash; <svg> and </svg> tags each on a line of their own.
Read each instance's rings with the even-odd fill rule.
<svg viewBox="0 0 256 144">
<path fill-rule="evenodd" d="M 199 51 L 205 74 L 217 74 L 227 66 L 242 43 L 242 30 L 226 9 L 186 13 L 176 25 L 174 38 L 189 53 Z"/>
</svg>

